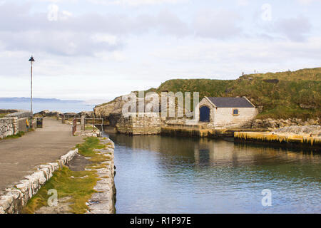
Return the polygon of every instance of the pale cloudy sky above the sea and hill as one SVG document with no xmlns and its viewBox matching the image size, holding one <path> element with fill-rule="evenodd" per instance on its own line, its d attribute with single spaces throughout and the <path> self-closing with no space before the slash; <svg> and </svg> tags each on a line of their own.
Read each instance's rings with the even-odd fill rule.
<svg viewBox="0 0 321 228">
<path fill-rule="evenodd" d="M 112 100 L 320 67 L 321 0 L 0 0 L 0 97 Z"/>
</svg>

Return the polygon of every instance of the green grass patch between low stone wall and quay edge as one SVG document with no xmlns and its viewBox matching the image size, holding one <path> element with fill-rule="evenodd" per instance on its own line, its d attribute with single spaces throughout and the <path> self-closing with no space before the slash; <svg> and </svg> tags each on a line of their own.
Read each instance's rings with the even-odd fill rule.
<svg viewBox="0 0 321 228">
<path fill-rule="evenodd" d="M 87 167 L 105 167 L 99 163 L 106 161 L 106 157 L 96 152 L 95 149 L 103 149 L 106 145 L 101 145 L 98 138 L 88 137 L 85 142 L 76 145 L 76 147 L 79 154 L 91 157 L 92 163 Z M 71 178 L 71 176 L 75 178 Z M 86 202 L 96 192 L 93 187 L 95 187 L 97 180 L 98 175 L 96 175 L 95 170 L 71 171 L 65 166 L 62 170 L 56 171 L 54 176 L 29 200 L 26 207 L 24 207 L 23 213 L 33 214 L 37 209 L 47 206 L 47 200 L 50 197 L 47 192 L 50 189 L 57 190 L 58 198 L 71 197 L 70 212 L 75 214 L 85 213 L 88 209 Z"/>
</svg>

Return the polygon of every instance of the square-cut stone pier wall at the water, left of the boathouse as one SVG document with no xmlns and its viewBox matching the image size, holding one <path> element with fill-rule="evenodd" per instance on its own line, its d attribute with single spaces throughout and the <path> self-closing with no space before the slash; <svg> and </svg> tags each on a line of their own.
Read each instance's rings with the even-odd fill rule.
<svg viewBox="0 0 321 228">
<path fill-rule="evenodd" d="M 138 113 L 118 120 L 118 133 L 128 135 L 157 135 L 161 133 L 161 118 L 157 113 Z"/>
</svg>

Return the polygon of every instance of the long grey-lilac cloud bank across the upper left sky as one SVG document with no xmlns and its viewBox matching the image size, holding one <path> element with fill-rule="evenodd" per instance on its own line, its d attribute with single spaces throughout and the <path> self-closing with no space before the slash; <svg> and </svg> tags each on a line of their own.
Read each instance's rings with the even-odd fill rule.
<svg viewBox="0 0 321 228">
<path fill-rule="evenodd" d="M 156 15 L 83 14 L 51 5 L 54 14 L 30 14 L 31 5 L 0 6 L 0 43 L 6 51 L 44 51 L 54 55 L 93 55 L 96 51 L 116 51 L 124 46 L 121 37 L 155 31 L 163 35 L 185 36 L 188 26 L 168 10 Z M 52 11 L 50 13 L 53 13 Z M 55 15 L 56 14 L 56 15 Z"/>
</svg>

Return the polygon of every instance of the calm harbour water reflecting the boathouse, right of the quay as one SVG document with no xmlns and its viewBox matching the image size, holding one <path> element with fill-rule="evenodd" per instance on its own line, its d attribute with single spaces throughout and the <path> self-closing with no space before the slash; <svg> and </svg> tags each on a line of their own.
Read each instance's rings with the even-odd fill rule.
<svg viewBox="0 0 321 228">
<path fill-rule="evenodd" d="M 225 140 L 109 135 L 117 213 L 320 213 L 321 155 Z M 262 191 L 272 193 L 263 207 Z"/>
</svg>

